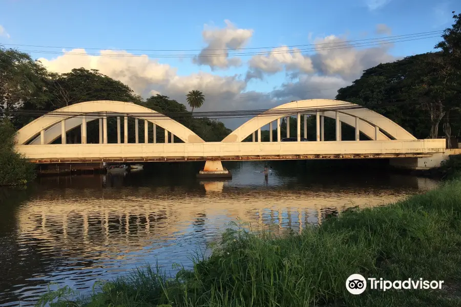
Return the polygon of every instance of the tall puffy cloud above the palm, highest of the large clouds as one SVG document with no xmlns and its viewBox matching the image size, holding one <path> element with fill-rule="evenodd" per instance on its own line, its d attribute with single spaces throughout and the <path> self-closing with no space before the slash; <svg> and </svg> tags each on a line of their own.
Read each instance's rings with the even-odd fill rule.
<svg viewBox="0 0 461 307">
<path fill-rule="evenodd" d="M 225 28 L 215 28 L 205 25 L 202 32 L 203 40 L 207 46 L 202 49 L 199 56 L 192 61 L 199 65 L 208 65 L 212 70 L 225 69 L 239 66 L 240 58 L 229 57 L 229 50 L 236 50 L 246 45 L 253 35 L 252 29 L 238 29 L 229 20 L 224 20 Z M 220 56 L 212 56 L 219 54 Z"/>
</svg>

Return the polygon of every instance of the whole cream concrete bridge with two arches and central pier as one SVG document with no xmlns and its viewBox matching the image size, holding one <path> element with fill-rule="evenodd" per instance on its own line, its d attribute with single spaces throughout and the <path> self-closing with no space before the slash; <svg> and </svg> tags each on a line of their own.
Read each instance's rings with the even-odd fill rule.
<svg viewBox="0 0 461 307">
<path fill-rule="evenodd" d="M 296 140 L 281 142 L 285 137 L 281 135 L 281 119 L 286 118 L 289 125 L 292 116 L 297 120 L 297 133 L 292 136 Z M 307 136 L 308 116 L 316 118 L 316 141 L 302 142 L 302 136 Z M 117 143 L 108 142 L 110 117 L 117 118 Z M 129 117 L 136 122 L 135 143 L 128 142 Z M 326 117 L 336 122 L 334 141 L 324 140 Z M 99 121 L 99 143 L 88 144 L 87 124 L 93 120 Z M 144 123 L 143 140 L 139 121 Z M 354 127 L 354 141 L 342 140 L 342 123 Z M 267 125 L 270 131 L 277 129 L 277 138 L 269 133 L 269 142 L 263 142 L 261 128 Z M 66 134 L 76 127 L 80 127 L 81 143 L 68 144 Z M 162 143 L 156 140 L 157 128 L 164 130 Z M 360 133 L 369 140 L 361 141 Z M 250 135 L 253 142 L 243 142 Z M 181 143 L 174 142 L 175 137 Z M 286 137 L 290 137 L 289 129 Z M 59 138 L 61 144 L 52 144 Z M 211 172 L 222 172 L 220 161 L 224 160 L 400 158 L 396 165 L 425 168 L 443 159 L 445 140 L 417 140 L 395 122 L 367 108 L 339 100 L 312 99 L 279 105 L 248 120 L 221 142 L 205 142 L 152 109 L 131 102 L 100 100 L 76 103 L 35 119 L 19 129 L 16 149 L 34 163 L 207 161 L 204 171 Z"/>
</svg>

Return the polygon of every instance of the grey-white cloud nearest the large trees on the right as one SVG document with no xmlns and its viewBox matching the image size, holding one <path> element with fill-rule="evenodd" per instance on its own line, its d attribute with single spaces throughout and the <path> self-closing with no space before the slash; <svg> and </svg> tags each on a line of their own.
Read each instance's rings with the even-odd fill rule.
<svg viewBox="0 0 461 307">
<path fill-rule="evenodd" d="M 338 47 L 339 45 L 341 47 Z M 317 52 L 311 56 L 316 72 L 323 75 L 339 75 L 347 80 L 354 80 L 359 78 L 365 69 L 395 60 L 389 54 L 391 44 L 366 49 L 352 46 L 344 48 L 349 47 L 347 45 L 350 46 L 344 43 L 344 39 L 334 35 L 316 39 Z"/>
</svg>

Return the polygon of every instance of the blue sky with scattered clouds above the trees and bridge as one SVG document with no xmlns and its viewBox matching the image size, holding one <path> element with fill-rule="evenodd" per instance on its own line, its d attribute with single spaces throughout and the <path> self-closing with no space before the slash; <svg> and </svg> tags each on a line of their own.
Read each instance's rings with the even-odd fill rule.
<svg viewBox="0 0 461 307">
<path fill-rule="evenodd" d="M 441 31 L 452 11 L 461 2 L 0 0 L 0 45 L 58 73 L 98 69 L 144 98 L 186 104 L 185 94 L 200 90 L 200 111 L 267 109 L 334 99 L 365 69 L 434 51 L 439 33 L 375 46 L 347 41 Z M 235 128 L 244 119 L 222 121 Z"/>
</svg>

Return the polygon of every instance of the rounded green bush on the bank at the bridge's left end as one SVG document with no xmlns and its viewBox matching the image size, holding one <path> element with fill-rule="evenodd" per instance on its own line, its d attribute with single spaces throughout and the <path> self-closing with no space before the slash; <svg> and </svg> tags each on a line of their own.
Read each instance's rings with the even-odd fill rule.
<svg viewBox="0 0 461 307">
<path fill-rule="evenodd" d="M 15 128 L 0 120 L 0 186 L 25 184 L 35 178 L 34 166 L 14 150 Z"/>
</svg>

